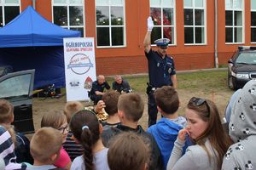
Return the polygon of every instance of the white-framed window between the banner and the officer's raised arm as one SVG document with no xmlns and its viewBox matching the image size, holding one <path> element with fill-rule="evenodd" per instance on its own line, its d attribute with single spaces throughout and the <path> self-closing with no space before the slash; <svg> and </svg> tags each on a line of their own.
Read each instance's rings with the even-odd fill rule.
<svg viewBox="0 0 256 170">
<path fill-rule="evenodd" d="M 96 45 L 125 46 L 125 0 L 96 0 Z"/>
</svg>

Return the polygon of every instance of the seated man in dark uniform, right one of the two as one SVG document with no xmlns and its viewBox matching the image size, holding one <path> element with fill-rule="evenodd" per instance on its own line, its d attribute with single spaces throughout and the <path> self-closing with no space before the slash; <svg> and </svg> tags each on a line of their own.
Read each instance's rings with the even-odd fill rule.
<svg viewBox="0 0 256 170">
<path fill-rule="evenodd" d="M 129 83 L 126 80 L 122 79 L 122 77 L 120 77 L 119 75 L 114 77 L 112 88 L 120 94 L 126 94 L 131 92 Z"/>
</svg>

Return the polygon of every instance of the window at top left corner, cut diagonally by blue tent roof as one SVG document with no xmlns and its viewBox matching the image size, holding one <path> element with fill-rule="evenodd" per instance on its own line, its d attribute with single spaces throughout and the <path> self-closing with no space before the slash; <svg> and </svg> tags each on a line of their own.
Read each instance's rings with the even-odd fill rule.
<svg viewBox="0 0 256 170">
<path fill-rule="evenodd" d="M 0 27 L 20 14 L 20 0 L 0 0 Z"/>
</svg>

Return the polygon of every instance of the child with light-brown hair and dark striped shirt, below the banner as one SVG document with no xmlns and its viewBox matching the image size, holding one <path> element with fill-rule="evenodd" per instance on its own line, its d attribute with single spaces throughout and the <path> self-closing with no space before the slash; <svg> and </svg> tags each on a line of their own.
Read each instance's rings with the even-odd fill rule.
<svg viewBox="0 0 256 170">
<path fill-rule="evenodd" d="M 64 107 L 64 114 L 67 117 L 67 123 L 70 122 L 73 114 L 77 113 L 84 109 L 84 105 L 82 105 L 79 101 L 69 101 Z M 71 161 L 73 161 L 77 156 L 83 155 L 83 147 L 81 144 L 77 144 L 72 139 L 73 133 L 71 131 L 68 132 L 65 143 L 63 144 L 64 150 L 67 151 L 68 156 Z"/>
</svg>

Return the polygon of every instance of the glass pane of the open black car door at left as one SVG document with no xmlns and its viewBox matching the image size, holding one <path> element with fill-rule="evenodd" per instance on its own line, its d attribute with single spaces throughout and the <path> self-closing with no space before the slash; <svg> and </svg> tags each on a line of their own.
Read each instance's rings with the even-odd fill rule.
<svg viewBox="0 0 256 170">
<path fill-rule="evenodd" d="M 31 74 L 10 77 L 0 82 L 0 99 L 20 100 L 26 99 L 30 92 Z"/>
</svg>

